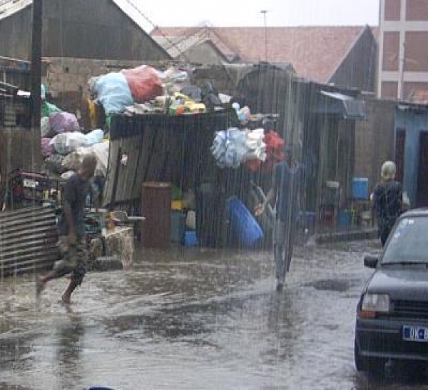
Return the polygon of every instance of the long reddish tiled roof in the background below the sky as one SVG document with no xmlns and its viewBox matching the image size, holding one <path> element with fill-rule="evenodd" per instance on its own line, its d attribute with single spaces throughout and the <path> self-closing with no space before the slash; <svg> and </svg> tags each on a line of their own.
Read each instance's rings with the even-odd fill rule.
<svg viewBox="0 0 428 390">
<path fill-rule="evenodd" d="M 267 61 L 291 63 L 297 74 L 320 83 L 329 81 L 337 66 L 350 51 L 364 26 L 267 27 Z M 201 27 L 165 27 L 152 31 L 152 36 L 192 36 Z M 372 29 L 374 36 L 377 29 Z M 265 61 L 263 27 L 208 27 L 204 34 L 218 37 L 228 53 L 240 61 Z M 213 42 L 215 43 L 215 42 Z M 222 46 L 218 49 L 223 52 Z"/>
</svg>

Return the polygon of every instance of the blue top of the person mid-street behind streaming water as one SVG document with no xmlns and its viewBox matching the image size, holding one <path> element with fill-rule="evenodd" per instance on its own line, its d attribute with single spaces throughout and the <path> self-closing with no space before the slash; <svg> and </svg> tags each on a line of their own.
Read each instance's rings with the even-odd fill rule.
<svg viewBox="0 0 428 390">
<path fill-rule="evenodd" d="M 292 169 L 287 162 L 275 164 L 273 186 L 277 187 L 277 218 L 283 222 L 294 222 L 298 212 L 298 194 L 302 185 L 302 167 L 296 164 Z"/>
</svg>

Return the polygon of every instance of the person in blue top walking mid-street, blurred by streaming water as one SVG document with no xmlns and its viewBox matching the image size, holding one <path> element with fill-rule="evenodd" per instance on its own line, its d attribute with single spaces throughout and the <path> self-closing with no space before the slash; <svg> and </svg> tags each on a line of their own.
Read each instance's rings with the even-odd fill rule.
<svg viewBox="0 0 428 390">
<path fill-rule="evenodd" d="M 273 257 L 277 291 L 282 291 L 285 274 L 290 269 L 292 246 L 297 229 L 298 195 L 302 180 L 302 167 L 296 161 L 297 150 L 285 149 L 285 161 L 274 166 L 272 186 L 262 204 L 255 207 L 255 215 L 265 212 L 268 203 L 274 203 L 276 219 L 274 228 Z"/>
</svg>

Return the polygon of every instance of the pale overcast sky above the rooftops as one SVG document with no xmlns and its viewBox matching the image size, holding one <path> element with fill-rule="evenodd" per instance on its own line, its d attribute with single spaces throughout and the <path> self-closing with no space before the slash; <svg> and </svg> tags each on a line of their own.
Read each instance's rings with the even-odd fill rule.
<svg viewBox="0 0 428 390">
<path fill-rule="evenodd" d="M 135 4 L 149 21 L 129 2 Z M 146 31 L 154 26 L 364 25 L 379 23 L 379 0 L 118 0 Z"/>
</svg>

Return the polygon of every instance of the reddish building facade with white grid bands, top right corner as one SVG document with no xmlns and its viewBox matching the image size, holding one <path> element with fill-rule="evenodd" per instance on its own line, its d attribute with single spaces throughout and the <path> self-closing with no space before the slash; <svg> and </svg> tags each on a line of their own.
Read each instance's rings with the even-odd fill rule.
<svg viewBox="0 0 428 390">
<path fill-rule="evenodd" d="M 378 96 L 428 92 L 428 0 L 381 0 L 379 27 Z"/>
</svg>

